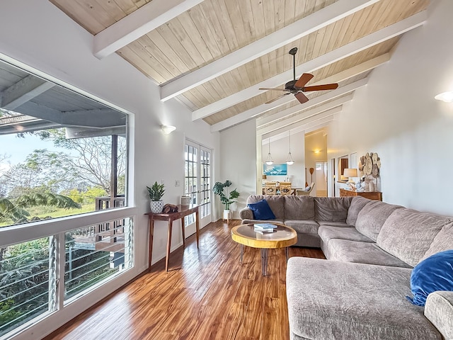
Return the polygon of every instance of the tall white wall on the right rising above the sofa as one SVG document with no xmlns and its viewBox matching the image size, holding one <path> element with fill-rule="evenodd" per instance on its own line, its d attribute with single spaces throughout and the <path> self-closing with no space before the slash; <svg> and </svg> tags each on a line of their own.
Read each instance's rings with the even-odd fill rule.
<svg viewBox="0 0 453 340">
<path fill-rule="evenodd" d="M 384 201 L 453 215 L 453 103 L 434 99 L 453 91 L 453 1 L 428 10 L 331 123 L 328 159 L 377 152 Z"/>
</svg>

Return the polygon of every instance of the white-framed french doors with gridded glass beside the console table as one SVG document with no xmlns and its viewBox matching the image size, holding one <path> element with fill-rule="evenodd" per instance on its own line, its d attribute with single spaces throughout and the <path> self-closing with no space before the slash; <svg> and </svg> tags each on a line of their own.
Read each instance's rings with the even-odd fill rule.
<svg viewBox="0 0 453 340">
<path fill-rule="evenodd" d="M 211 163 L 212 152 L 194 142 L 185 141 L 184 194 L 190 203 L 200 205 L 200 227 L 211 222 Z M 185 225 L 195 232 L 195 215 L 185 217 Z"/>
</svg>

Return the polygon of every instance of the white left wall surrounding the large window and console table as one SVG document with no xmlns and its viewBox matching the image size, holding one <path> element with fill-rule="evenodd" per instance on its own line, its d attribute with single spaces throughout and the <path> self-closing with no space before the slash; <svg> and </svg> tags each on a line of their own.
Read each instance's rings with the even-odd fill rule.
<svg viewBox="0 0 453 340">
<path fill-rule="evenodd" d="M 134 139 L 130 145 L 134 157 L 130 173 L 134 182 L 130 195 L 137 206 L 135 268 L 125 273 L 122 278 L 124 283 L 147 267 L 148 221 L 144 213 L 149 211 L 149 200 L 146 186 L 164 180 L 164 201 L 180 203 L 183 186 L 175 187 L 174 181 L 179 179 L 183 183 L 185 137 L 217 152 L 219 134 L 211 134 L 209 126 L 203 121 L 192 123 L 190 111 L 177 101 L 162 103 L 159 87 L 120 56 L 110 55 L 98 60 L 91 52 L 92 45 L 92 35 L 49 1 L 0 2 L 0 53 L 134 113 L 131 125 Z M 175 125 L 176 132 L 163 135 L 159 130 L 161 124 Z M 219 169 L 218 161 L 216 164 L 214 168 Z M 173 228 L 173 248 L 182 244 L 179 226 L 178 222 Z M 164 257 L 165 244 L 166 223 L 156 222 L 153 263 Z M 33 337 L 59 327 L 74 317 L 74 313 L 81 312 L 111 291 L 98 290 L 93 299 L 85 299 L 85 305 L 69 306 L 72 310 L 64 317 L 47 318 Z"/>
</svg>

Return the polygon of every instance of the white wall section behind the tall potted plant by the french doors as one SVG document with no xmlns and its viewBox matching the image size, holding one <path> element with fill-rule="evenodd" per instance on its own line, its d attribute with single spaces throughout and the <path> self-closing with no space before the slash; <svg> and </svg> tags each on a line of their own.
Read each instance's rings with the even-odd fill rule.
<svg viewBox="0 0 453 340">
<path fill-rule="evenodd" d="M 229 179 L 240 196 L 231 205 L 233 218 L 239 218 L 239 210 L 246 206 L 246 199 L 256 193 L 256 122 L 248 120 L 220 132 L 220 162 L 218 181 Z M 218 198 L 216 198 L 219 202 Z M 217 218 L 221 218 L 224 205 L 217 204 Z"/>
</svg>

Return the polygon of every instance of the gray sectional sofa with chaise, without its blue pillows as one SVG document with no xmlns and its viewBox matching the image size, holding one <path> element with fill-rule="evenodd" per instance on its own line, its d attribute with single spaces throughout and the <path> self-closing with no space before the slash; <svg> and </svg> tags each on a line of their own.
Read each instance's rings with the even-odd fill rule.
<svg viewBox="0 0 453 340">
<path fill-rule="evenodd" d="M 263 198 L 276 222 L 296 229 L 298 245 L 319 246 L 327 259 L 287 263 L 290 339 L 453 339 L 453 292 L 431 293 L 425 307 L 406 299 L 413 267 L 453 249 L 453 217 L 360 196 L 247 203 Z M 248 208 L 240 215 L 256 221 Z"/>
</svg>

